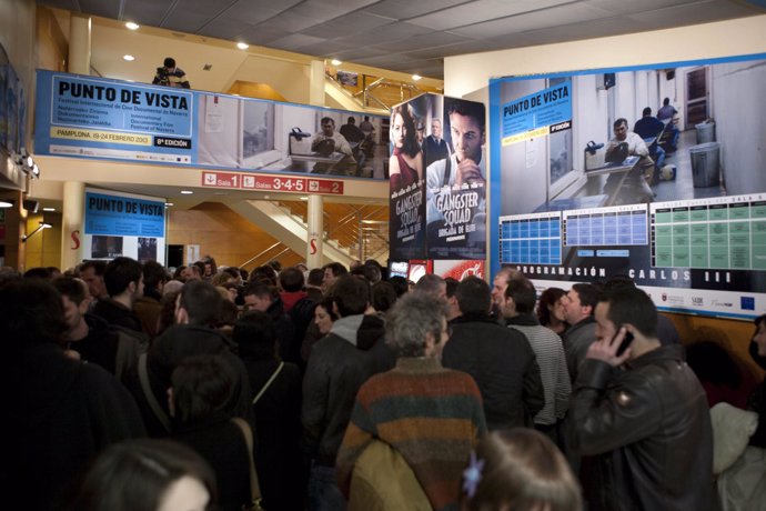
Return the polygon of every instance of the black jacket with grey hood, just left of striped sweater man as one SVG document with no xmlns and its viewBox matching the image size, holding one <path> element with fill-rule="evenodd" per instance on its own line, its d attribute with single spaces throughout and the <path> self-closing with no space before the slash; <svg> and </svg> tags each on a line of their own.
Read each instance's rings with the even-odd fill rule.
<svg viewBox="0 0 766 511">
<path fill-rule="evenodd" d="M 375 335 L 367 328 L 369 322 L 376 320 L 373 318 L 341 318 L 311 351 L 303 378 L 302 448 L 321 464 L 335 464 L 360 387 L 373 374 L 394 367 L 383 330 L 379 329 Z M 363 339 L 357 343 L 360 331 Z M 372 338 L 376 338 L 375 342 L 365 342 Z"/>
</svg>

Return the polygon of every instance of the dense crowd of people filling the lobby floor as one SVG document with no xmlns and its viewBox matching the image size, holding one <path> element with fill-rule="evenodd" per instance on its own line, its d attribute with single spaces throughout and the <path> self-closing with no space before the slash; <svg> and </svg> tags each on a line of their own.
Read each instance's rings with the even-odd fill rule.
<svg viewBox="0 0 766 511">
<path fill-rule="evenodd" d="M 3 269 L 0 315 L 19 509 L 716 509 L 716 389 L 765 447 L 763 383 L 728 399 L 626 278 L 119 257 Z"/>
</svg>

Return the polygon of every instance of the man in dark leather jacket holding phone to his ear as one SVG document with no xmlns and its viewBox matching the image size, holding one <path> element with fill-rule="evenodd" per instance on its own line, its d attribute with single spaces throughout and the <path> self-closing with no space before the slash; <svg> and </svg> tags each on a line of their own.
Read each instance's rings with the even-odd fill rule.
<svg viewBox="0 0 766 511">
<path fill-rule="evenodd" d="M 572 410 L 579 451 L 594 457 L 588 510 L 710 509 L 710 415 L 681 345 L 661 344 L 657 310 L 639 289 L 607 293 L 595 319 Z"/>
</svg>

